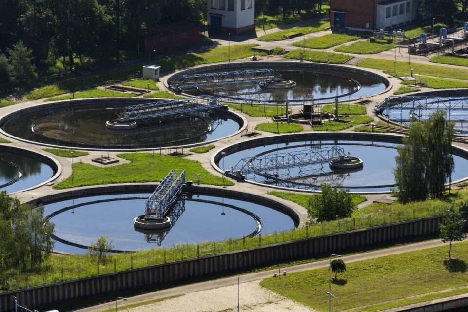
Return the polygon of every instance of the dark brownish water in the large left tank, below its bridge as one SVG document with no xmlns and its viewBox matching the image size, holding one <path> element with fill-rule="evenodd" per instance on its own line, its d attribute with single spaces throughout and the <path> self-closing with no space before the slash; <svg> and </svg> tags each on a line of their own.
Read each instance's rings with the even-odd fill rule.
<svg viewBox="0 0 468 312">
<path fill-rule="evenodd" d="M 183 117 L 166 117 L 139 123 L 130 130 L 106 128 L 125 106 L 93 106 L 43 109 L 5 122 L 3 129 L 23 139 L 41 143 L 89 148 L 145 148 L 205 142 L 233 134 L 239 124 L 214 112 Z"/>
</svg>

